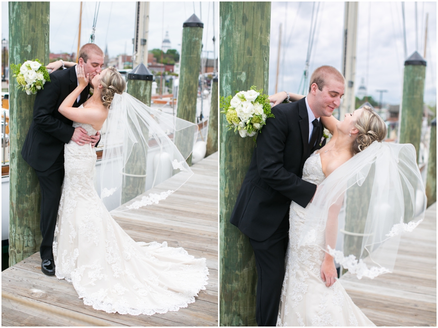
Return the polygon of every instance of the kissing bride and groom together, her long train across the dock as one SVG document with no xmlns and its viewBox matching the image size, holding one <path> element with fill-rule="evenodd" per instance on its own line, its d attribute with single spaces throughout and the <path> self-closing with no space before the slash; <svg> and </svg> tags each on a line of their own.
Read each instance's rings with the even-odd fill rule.
<svg viewBox="0 0 438 328">
<path fill-rule="evenodd" d="M 191 171 L 155 121 L 158 116 L 152 117 L 153 109 L 124 92 L 124 77 L 113 67 L 102 70 L 103 65 L 102 50 L 85 44 L 78 64 L 58 61 L 47 66 L 54 70 L 51 82 L 37 93 L 21 155 L 40 182 L 41 270 L 71 281 L 79 298 L 95 310 L 131 315 L 177 311 L 205 289 L 205 258 L 195 259 L 166 242 L 135 242 L 112 219 L 102 199 L 121 187 L 134 144 L 146 158 L 149 134 L 182 174 Z M 61 66 L 68 69 L 58 70 Z M 163 123 L 165 114 L 156 114 Z M 169 120 L 197 131 L 195 124 L 173 116 Z M 94 189 L 93 147 L 100 142 L 105 121 L 102 170 L 109 167 L 112 174 L 102 184 L 110 182 L 114 188 L 99 197 Z M 192 141 L 181 144 L 187 150 Z M 139 164 L 146 169 L 146 161 Z"/>
</svg>

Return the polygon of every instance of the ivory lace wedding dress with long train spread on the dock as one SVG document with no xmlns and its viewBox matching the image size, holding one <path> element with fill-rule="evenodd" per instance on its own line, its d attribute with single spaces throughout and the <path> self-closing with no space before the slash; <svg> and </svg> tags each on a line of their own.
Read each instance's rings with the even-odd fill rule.
<svg viewBox="0 0 438 328">
<path fill-rule="evenodd" d="M 91 125 L 74 123 L 89 135 Z M 207 285 L 205 258 L 164 241 L 135 242 L 111 218 L 93 185 L 91 145 L 65 146 L 65 178 L 55 228 L 56 277 L 73 283 L 84 304 L 109 313 L 177 311 Z"/>
</svg>

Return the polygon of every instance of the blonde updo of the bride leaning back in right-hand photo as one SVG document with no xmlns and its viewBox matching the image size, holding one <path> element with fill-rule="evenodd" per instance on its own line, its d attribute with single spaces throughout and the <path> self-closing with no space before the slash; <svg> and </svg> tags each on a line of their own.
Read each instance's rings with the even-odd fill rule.
<svg viewBox="0 0 438 328">
<path fill-rule="evenodd" d="M 357 138 L 353 142 L 353 153 L 357 154 L 374 141 L 381 142 L 386 137 L 386 125 L 371 107 L 364 106 L 361 117 L 354 124 L 359 130 Z"/>
</svg>

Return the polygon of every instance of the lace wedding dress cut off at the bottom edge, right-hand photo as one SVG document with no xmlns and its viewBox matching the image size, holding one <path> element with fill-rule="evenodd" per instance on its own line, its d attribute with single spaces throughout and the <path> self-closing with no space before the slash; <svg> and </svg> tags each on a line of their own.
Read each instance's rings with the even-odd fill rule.
<svg viewBox="0 0 438 328">
<path fill-rule="evenodd" d="M 325 179 L 319 154 L 313 153 L 303 168 L 303 180 L 320 184 Z M 339 281 L 326 287 L 320 268 L 325 252 L 312 245 L 298 248 L 300 231 L 310 205 L 301 207 L 292 201 L 285 278 L 280 299 L 277 326 L 375 326 L 354 305 Z M 320 246 L 325 248 L 325 238 Z"/>
</svg>

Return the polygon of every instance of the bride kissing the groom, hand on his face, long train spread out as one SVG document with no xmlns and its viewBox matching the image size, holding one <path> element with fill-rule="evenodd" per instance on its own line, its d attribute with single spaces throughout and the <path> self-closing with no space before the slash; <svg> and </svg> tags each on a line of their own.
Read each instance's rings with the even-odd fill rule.
<svg viewBox="0 0 438 328">
<path fill-rule="evenodd" d="M 74 121 L 73 127 L 82 127 L 89 135 L 94 135 L 102 128 L 109 113 L 112 115 L 109 126 L 122 126 L 127 130 L 128 122 L 145 125 L 148 128 L 146 136 L 152 134 L 159 144 L 168 142 L 165 150 L 170 153 L 168 156 L 176 158 L 172 163 L 174 169 L 189 171 L 181 153 L 154 119 L 147 113 L 144 116 L 140 113 L 148 109 L 146 105 L 123 92 L 126 82 L 113 67 L 94 76 L 91 82 L 94 94 L 79 108 L 73 108 L 75 99 L 89 81 L 82 66 L 77 71 L 78 86 L 59 107 L 62 115 Z M 140 115 L 138 120 L 136 113 Z M 128 115 L 131 116 L 127 119 Z M 113 138 L 118 141 L 127 139 L 114 131 L 111 132 Z M 147 141 L 132 132 L 136 129 L 128 131 L 131 131 L 128 133 L 131 140 L 128 150 L 126 142 L 123 147 L 114 143 L 110 146 L 110 135 L 103 138 L 106 152 L 122 149 L 129 153 L 135 143 L 147 147 Z M 160 139 L 159 135 L 164 137 Z M 163 147 L 163 144 L 159 146 Z M 111 218 L 94 189 L 96 153 L 91 145 L 78 146 L 70 141 L 64 153 L 65 178 L 53 242 L 56 277 L 71 281 L 86 305 L 109 313 L 152 315 L 177 311 L 194 302 L 194 296 L 207 285 L 205 258 L 195 259 L 183 248 L 167 247 L 166 242 L 135 242 Z M 129 156 L 124 158 L 123 164 Z M 117 161 L 114 157 L 107 162 L 111 166 Z M 107 178 L 114 181 L 112 176 Z M 103 191 L 102 198 L 115 189 Z M 145 203 L 140 201 L 135 208 L 143 205 Z"/>
</svg>

